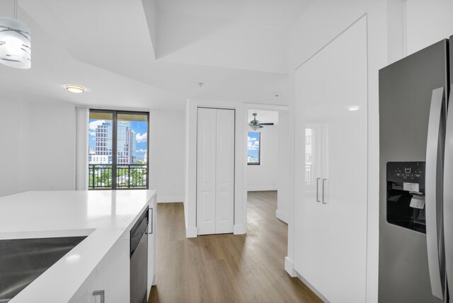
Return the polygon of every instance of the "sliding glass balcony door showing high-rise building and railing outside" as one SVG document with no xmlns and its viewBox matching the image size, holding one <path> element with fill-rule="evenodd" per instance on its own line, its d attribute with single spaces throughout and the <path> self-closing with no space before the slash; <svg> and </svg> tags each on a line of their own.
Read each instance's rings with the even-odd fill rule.
<svg viewBox="0 0 453 303">
<path fill-rule="evenodd" d="M 88 189 L 147 189 L 149 113 L 90 110 Z"/>
</svg>

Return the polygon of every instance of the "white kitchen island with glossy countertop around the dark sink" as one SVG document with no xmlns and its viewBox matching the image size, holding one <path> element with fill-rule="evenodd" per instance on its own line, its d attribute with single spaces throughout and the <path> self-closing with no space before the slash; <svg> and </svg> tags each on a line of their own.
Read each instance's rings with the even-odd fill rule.
<svg viewBox="0 0 453 303">
<path fill-rule="evenodd" d="M 9 302 L 129 302 L 130 230 L 148 209 L 149 292 L 156 280 L 155 205 L 155 190 L 31 191 L 0 198 L 0 241 L 86 236 Z"/>
</svg>

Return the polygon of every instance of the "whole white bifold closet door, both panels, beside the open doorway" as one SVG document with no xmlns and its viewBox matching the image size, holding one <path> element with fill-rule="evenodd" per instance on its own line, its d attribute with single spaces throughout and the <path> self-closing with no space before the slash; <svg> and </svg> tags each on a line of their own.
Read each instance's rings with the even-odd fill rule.
<svg viewBox="0 0 453 303">
<path fill-rule="evenodd" d="M 197 234 L 233 232 L 234 110 L 197 108 Z"/>
</svg>

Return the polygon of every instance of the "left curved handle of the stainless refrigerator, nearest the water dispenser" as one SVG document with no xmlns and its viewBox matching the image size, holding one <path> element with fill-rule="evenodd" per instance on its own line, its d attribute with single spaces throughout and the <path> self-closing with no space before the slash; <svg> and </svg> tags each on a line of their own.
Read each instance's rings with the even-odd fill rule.
<svg viewBox="0 0 453 303">
<path fill-rule="evenodd" d="M 425 215 L 428 267 L 432 295 L 444 298 L 445 271 L 442 233 L 442 167 L 445 146 L 445 88 L 432 91 L 426 142 Z M 446 170 L 447 171 L 447 170 Z M 451 185 L 450 185 L 451 187 Z"/>
</svg>

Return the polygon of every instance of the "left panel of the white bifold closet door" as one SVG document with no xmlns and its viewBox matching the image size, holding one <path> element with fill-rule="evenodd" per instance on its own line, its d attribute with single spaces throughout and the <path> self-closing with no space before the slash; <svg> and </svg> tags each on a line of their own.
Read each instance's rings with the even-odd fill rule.
<svg viewBox="0 0 453 303">
<path fill-rule="evenodd" d="M 216 110 L 197 109 L 197 233 L 215 234 Z"/>
</svg>

